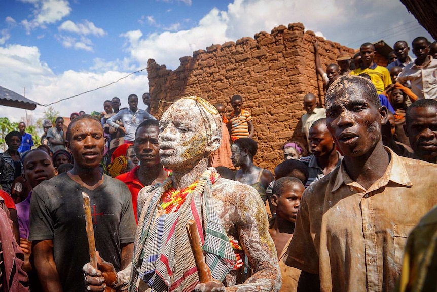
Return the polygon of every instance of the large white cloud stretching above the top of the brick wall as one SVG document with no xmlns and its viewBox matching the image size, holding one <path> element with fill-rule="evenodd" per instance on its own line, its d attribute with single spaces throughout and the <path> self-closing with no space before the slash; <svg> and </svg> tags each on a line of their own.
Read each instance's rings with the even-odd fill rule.
<svg viewBox="0 0 437 292">
<path fill-rule="evenodd" d="M 333 15 L 342 17 L 333 19 Z M 392 45 L 399 38 L 411 42 L 417 34 L 429 36 L 397 0 L 370 3 L 359 0 L 234 0 L 224 11 L 213 8 L 188 30 L 173 32 L 180 26 L 169 26 L 162 33 L 143 36 L 140 30 L 133 30 L 121 36 L 126 38 L 125 49 L 133 61 L 145 64 L 147 59 L 154 58 L 175 69 L 180 57 L 192 55 L 195 50 L 253 37 L 259 31 L 270 31 L 275 26 L 287 26 L 292 22 L 302 22 L 306 29 L 353 48 L 367 41 L 384 39 Z M 413 25 L 416 26 L 412 28 Z"/>
</svg>

